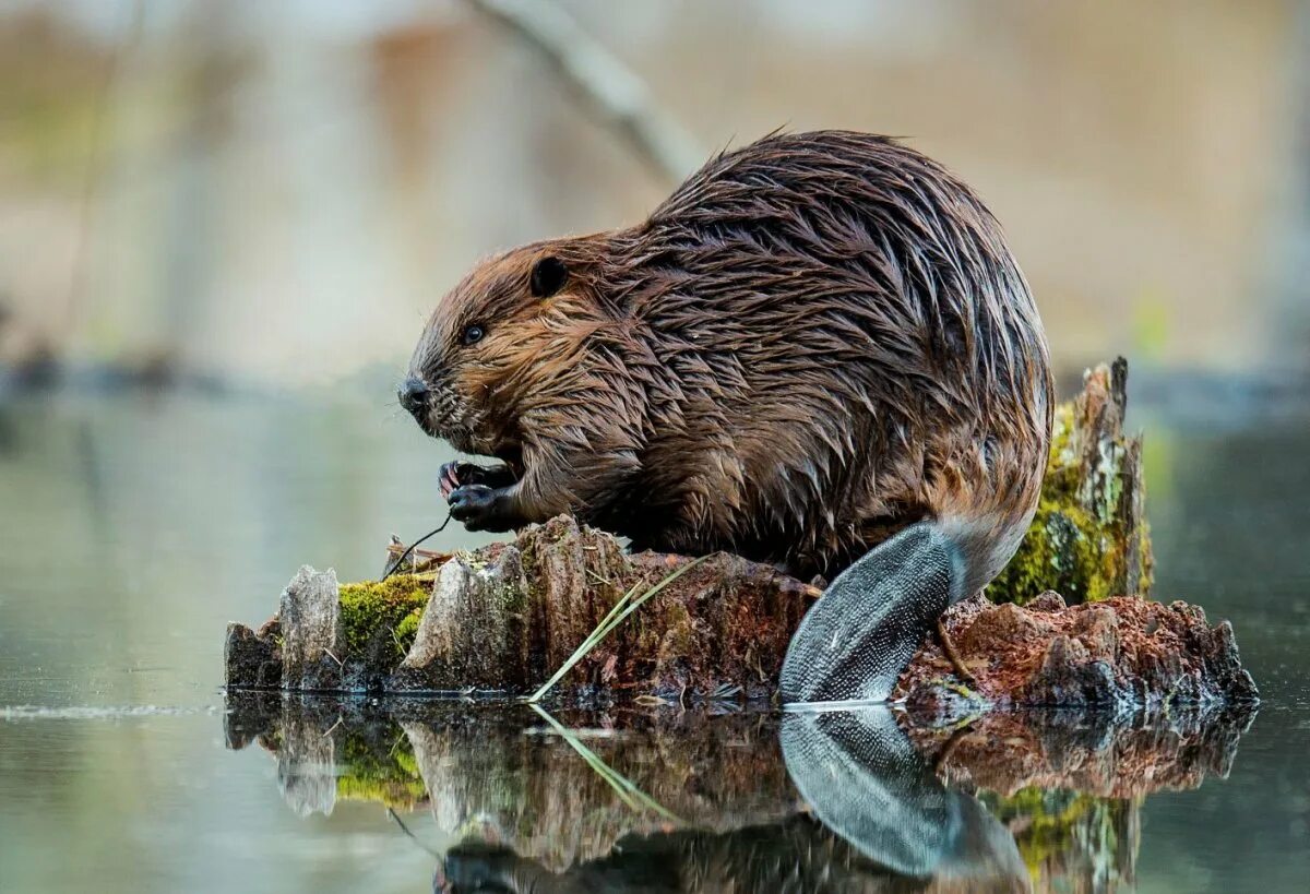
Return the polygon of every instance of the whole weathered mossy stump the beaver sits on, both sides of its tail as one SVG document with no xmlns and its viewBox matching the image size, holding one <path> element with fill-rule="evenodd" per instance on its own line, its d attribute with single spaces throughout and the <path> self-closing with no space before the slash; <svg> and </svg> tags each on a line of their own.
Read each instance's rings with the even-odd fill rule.
<svg viewBox="0 0 1310 894">
<path fill-rule="evenodd" d="M 1079 603 L 1121 598 L 1100 608 L 1045 598 L 1031 611 L 963 603 L 948 629 L 964 642 L 965 661 L 985 665 L 980 686 L 962 690 L 930 638 L 907 671 L 904 695 L 916 690 L 934 709 L 958 703 L 952 692 L 975 707 L 1254 697 L 1230 628 L 1212 631 L 1199 611 L 1123 596 L 1150 583 L 1141 444 L 1123 433 L 1125 388 L 1123 360 L 1102 366 L 1060 409 L 1041 509 L 1015 562 L 988 590 L 1017 603 L 1052 587 Z M 567 692 L 770 699 L 791 633 L 820 595 L 724 553 L 702 561 L 630 554 L 570 516 L 532 526 L 512 543 L 448 558 L 428 553 L 406 568 L 417 573 L 343 586 L 330 570 L 303 568 L 278 619 L 259 633 L 229 627 L 228 688 L 525 693 L 617 603 L 683 572 L 580 658 Z"/>
</svg>

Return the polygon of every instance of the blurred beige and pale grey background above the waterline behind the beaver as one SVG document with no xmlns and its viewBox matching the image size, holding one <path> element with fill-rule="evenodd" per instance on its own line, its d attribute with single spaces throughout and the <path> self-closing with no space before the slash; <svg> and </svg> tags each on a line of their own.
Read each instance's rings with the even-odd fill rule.
<svg viewBox="0 0 1310 894">
<path fill-rule="evenodd" d="M 1062 367 L 1310 357 L 1305 3 L 554 5 L 677 130 L 675 169 L 777 127 L 945 161 L 1009 231 Z M 9 370 L 394 376 L 477 258 L 634 223 L 677 180 L 477 4 L 0 9 Z"/>
</svg>

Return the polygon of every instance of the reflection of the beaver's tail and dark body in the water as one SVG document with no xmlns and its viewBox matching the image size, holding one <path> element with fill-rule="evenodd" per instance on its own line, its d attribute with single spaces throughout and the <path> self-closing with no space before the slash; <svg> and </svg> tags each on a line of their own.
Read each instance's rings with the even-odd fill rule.
<svg viewBox="0 0 1310 894">
<path fill-rule="evenodd" d="M 506 847 L 447 852 L 448 894 L 663 891 L 1024 891 L 1014 839 L 975 798 L 947 790 L 886 708 L 790 713 L 782 751 L 812 815 L 726 834 L 681 828 L 620 839 L 554 873 Z"/>
</svg>

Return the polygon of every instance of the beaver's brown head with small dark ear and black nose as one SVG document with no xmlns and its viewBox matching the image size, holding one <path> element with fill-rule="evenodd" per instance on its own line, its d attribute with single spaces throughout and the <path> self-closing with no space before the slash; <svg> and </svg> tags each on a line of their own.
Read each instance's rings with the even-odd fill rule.
<svg viewBox="0 0 1310 894">
<path fill-rule="evenodd" d="M 517 463 L 525 417 L 567 391 L 601 322 L 596 257 L 592 237 L 525 245 L 441 299 L 398 393 L 423 431 Z"/>
</svg>

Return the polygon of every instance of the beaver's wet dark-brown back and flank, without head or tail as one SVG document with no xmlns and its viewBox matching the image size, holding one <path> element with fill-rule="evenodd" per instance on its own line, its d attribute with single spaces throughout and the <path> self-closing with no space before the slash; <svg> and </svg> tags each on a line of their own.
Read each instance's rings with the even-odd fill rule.
<svg viewBox="0 0 1310 894">
<path fill-rule="evenodd" d="M 924 516 L 1031 516 L 1041 322 L 996 219 L 917 152 L 823 131 L 722 155 L 613 235 L 600 291 L 660 367 L 639 481 L 597 514 L 638 543 L 832 573 Z"/>
</svg>

